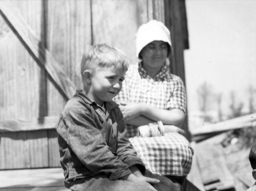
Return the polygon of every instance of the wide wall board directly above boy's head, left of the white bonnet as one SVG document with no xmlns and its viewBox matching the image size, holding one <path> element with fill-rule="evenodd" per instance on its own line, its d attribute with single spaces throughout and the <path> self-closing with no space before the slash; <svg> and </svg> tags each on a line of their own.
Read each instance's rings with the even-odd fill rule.
<svg viewBox="0 0 256 191">
<path fill-rule="evenodd" d="M 136 63 L 135 34 L 140 24 L 140 14 L 135 0 L 94 0 L 92 1 L 92 30 L 94 44 L 113 45 Z M 143 11 L 144 12 L 144 11 Z"/>
</svg>

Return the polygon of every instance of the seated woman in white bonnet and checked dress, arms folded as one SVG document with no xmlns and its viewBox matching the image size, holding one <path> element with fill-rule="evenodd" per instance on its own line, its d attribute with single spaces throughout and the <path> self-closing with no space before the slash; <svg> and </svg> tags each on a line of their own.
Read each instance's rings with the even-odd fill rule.
<svg viewBox="0 0 256 191">
<path fill-rule="evenodd" d="M 186 115 L 186 92 L 180 77 L 169 72 L 172 54 L 170 31 L 151 20 L 139 27 L 136 54 L 140 62 L 130 65 L 119 95 L 128 136 L 153 173 L 175 177 L 184 183 L 192 164 L 193 149 L 179 132 Z M 138 126 L 162 121 L 162 137 L 138 137 Z M 173 131 L 173 132 L 172 132 Z"/>
</svg>

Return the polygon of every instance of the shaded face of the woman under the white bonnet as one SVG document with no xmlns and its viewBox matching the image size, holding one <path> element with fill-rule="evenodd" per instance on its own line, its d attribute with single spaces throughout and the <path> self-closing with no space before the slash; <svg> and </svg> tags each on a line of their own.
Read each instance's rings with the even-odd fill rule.
<svg viewBox="0 0 256 191">
<path fill-rule="evenodd" d="M 145 70 L 160 70 L 168 54 L 167 42 L 154 40 L 140 52 Z"/>
</svg>

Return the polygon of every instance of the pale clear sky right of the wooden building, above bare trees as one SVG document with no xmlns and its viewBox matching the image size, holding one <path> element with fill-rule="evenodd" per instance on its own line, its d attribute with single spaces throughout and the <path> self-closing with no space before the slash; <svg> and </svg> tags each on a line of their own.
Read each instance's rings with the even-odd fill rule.
<svg viewBox="0 0 256 191">
<path fill-rule="evenodd" d="M 196 90 L 207 82 L 223 95 L 248 102 L 256 89 L 256 0 L 186 0 L 189 49 L 184 51 L 188 112 L 198 110 Z"/>
</svg>

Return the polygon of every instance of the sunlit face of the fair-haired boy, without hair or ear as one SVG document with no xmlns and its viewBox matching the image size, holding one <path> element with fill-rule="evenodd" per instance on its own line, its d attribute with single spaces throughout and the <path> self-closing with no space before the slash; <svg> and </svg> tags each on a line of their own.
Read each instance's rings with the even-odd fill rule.
<svg viewBox="0 0 256 191">
<path fill-rule="evenodd" d="M 122 89 L 125 71 L 112 67 L 98 67 L 91 76 L 91 88 L 87 96 L 102 106 L 104 101 L 111 101 Z"/>
</svg>

